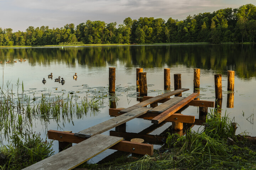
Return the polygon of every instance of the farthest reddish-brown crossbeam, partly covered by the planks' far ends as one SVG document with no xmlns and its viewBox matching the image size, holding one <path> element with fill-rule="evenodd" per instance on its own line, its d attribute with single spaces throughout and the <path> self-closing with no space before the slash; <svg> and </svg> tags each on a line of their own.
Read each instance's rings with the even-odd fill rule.
<svg viewBox="0 0 256 170">
<path fill-rule="evenodd" d="M 150 98 L 153 98 L 151 96 L 143 96 L 143 100 L 148 100 Z M 185 97 L 184 97 L 185 98 Z M 158 103 L 164 103 L 171 98 L 164 98 L 162 100 L 159 100 Z M 189 103 L 186 104 L 187 106 L 199 106 L 199 107 L 214 107 L 214 102 L 212 101 L 206 101 L 206 100 L 192 100 Z"/>
</svg>

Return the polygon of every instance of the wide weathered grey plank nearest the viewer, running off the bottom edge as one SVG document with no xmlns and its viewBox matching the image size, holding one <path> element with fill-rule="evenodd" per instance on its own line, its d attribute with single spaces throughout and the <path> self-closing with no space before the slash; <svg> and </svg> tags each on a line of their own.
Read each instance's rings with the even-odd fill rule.
<svg viewBox="0 0 256 170">
<path fill-rule="evenodd" d="M 122 141 L 122 137 L 95 135 L 23 170 L 69 170 Z"/>
</svg>

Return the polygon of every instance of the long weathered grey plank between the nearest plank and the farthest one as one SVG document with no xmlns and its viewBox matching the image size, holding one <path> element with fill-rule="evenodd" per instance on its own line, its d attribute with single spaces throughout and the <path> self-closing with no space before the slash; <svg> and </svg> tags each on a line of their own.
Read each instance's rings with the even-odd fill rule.
<svg viewBox="0 0 256 170">
<path fill-rule="evenodd" d="M 130 112 L 127 112 L 125 114 L 122 114 L 121 116 L 109 119 L 107 121 L 104 121 L 100 124 L 97 124 L 95 126 L 92 126 L 90 128 L 87 128 L 85 130 L 82 130 L 78 133 L 75 133 L 75 136 L 80 136 L 80 137 L 91 137 L 96 134 L 101 134 L 107 130 L 110 130 L 116 126 L 119 126 L 123 123 L 126 123 L 129 120 L 132 120 L 134 118 L 139 117 L 140 115 L 145 114 L 148 112 L 150 108 L 147 107 L 139 107 L 137 109 L 134 109 Z"/>
</svg>

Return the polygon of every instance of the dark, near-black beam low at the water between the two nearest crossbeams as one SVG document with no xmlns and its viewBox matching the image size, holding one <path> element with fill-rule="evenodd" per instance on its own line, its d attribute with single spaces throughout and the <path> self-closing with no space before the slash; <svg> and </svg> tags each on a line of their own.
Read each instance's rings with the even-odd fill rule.
<svg viewBox="0 0 256 170">
<path fill-rule="evenodd" d="M 133 138 L 142 138 L 146 143 L 154 144 L 154 145 L 161 145 L 164 142 L 162 142 L 162 138 L 167 137 L 168 135 L 148 135 L 148 134 L 138 134 L 133 132 L 116 132 L 116 131 L 110 131 L 110 136 L 118 136 L 123 137 L 126 140 L 131 140 Z"/>
</svg>

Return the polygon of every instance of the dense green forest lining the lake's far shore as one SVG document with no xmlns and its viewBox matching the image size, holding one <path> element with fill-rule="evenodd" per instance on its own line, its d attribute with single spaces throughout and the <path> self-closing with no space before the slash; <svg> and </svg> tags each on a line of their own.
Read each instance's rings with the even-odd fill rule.
<svg viewBox="0 0 256 170">
<path fill-rule="evenodd" d="M 225 8 L 213 13 L 188 16 L 183 21 L 140 17 L 124 19 L 123 24 L 90 21 L 62 28 L 48 26 L 12 32 L 0 28 L 0 46 L 40 46 L 64 44 L 144 44 L 171 42 L 255 42 L 256 6 Z"/>
</svg>

